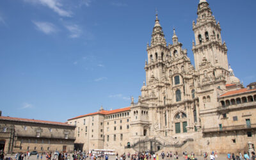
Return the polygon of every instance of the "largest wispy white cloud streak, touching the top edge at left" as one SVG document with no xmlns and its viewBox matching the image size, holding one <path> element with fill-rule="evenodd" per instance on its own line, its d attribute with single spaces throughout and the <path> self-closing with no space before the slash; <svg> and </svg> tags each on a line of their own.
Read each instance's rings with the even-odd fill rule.
<svg viewBox="0 0 256 160">
<path fill-rule="evenodd" d="M 72 12 L 61 8 L 63 4 L 60 3 L 60 0 L 24 0 L 24 1 L 28 3 L 34 3 L 34 4 L 39 3 L 39 4 L 42 4 L 43 6 L 47 6 L 62 17 L 72 17 Z"/>
</svg>

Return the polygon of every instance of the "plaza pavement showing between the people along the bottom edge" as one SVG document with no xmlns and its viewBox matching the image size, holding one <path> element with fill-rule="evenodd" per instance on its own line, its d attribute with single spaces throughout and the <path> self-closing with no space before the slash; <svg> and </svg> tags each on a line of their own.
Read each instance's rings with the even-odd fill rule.
<svg viewBox="0 0 256 160">
<path fill-rule="evenodd" d="M 41 155 L 40 155 L 41 156 Z M 40 156 L 39 156 L 39 160 L 41 160 L 40 159 Z M 5 157 L 11 157 L 12 159 L 15 159 L 14 157 L 15 157 L 15 154 L 14 155 L 6 155 Z M 5 158 L 4 157 L 4 158 Z M 71 156 L 72 157 L 72 156 Z M 204 159 L 204 157 L 202 157 L 202 156 L 195 156 L 198 160 L 203 160 Z M 126 158 L 127 160 L 130 160 L 129 158 Z M 179 156 L 179 159 L 184 159 L 184 157 L 182 157 L 182 156 Z M 210 157 L 208 157 L 207 159 L 210 159 Z M 218 155 L 218 157 L 216 158 L 216 160 L 224 160 L 224 159 L 226 159 L 227 160 L 227 157 L 226 157 L 226 155 L 223 155 L 223 154 L 221 154 L 221 155 Z M 25 160 L 25 159 L 24 159 Z M 31 157 L 29 157 L 29 159 L 28 159 L 28 157 L 26 158 L 26 160 L 37 160 L 36 159 L 36 156 L 35 155 L 32 155 Z M 45 158 L 45 155 L 43 155 L 43 159 L 42 160 L 46 160 L 46 158 Z M 71 160 L 73 160 L 73 158 L 71 158 Z M 90 159 L 88 159 L 88 158 L 86 158 L 86 160 L 90 160 Z M 104 160 L 104 159 L 97 159 L 97 160 Z M 109 156 L 109 160 L 115 160 L 115 156 Z M 153 160 L 153 158 L 151 158 L 150 160 Z M 164 158 L 164 159 L 162 159 L 162 157 L 159 157 L 159 160 L 173 160 L 173 158 L 172 159 L 167 159 L 167 158 Z"/>
</svg>

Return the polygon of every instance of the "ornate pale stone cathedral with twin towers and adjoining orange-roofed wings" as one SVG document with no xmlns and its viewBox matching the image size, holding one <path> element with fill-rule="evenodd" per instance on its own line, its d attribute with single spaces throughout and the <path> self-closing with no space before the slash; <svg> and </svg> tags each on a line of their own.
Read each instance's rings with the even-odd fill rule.
<svg viewBox="0 0 256 160">
<path fill-rule="evenodd" d="M 254 150 L 256 83 L 244 87 L 228 65 L 220 22 L 200 0 L 192 28 L 195 67 L 173 29 L 166 43 L 156 15 L 138 102 L 70 118 L 77 150 L 220 154 Z"/>
</svg>

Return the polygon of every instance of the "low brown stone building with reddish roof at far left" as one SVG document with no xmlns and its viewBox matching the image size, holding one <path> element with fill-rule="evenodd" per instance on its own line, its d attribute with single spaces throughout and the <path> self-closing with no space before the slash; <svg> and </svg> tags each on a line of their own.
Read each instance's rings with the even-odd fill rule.
<svg viewBox="0 0 256 160">
<path fill-rule="evenodd" d="M 0 116 L 0 150 L 6 153 L 72 152 L 75 126 L 61 122 Z"/>
</svg>

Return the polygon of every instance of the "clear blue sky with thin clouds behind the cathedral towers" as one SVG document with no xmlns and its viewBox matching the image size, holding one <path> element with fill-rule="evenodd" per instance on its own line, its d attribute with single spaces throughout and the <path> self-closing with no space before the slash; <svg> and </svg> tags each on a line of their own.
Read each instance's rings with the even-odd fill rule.
<svg viewBox="0 0 256 160">
<path fill-rule="evenodd" d="M 124 108 L 140 95 L 157 8 L 167 42 L 176 28 L 191 51 L 199 0 L 0 1 L 0 109 L 3 116 L 65 122 Z M 256 80 L 256 1 L 208 0 L 220 21 L 228 62 Z"/>
</svg>

